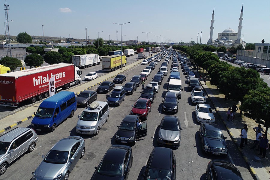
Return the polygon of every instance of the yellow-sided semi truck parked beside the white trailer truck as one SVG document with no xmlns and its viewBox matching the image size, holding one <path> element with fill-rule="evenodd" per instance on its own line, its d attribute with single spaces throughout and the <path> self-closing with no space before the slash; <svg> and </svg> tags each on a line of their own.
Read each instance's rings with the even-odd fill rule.
<svg viewBox="0 0 270 180">
<path fill-rule="evenodd" d="M 122 55 L 122 67 L 126 66 L 127 58 L 125 55 Z M 102 63 L 101 63 L 103 70 L 110 70 L 114 71 L 121 68 L 121 55 L 110 55 L 110 56 L 103 56 Z"/>
</svg>

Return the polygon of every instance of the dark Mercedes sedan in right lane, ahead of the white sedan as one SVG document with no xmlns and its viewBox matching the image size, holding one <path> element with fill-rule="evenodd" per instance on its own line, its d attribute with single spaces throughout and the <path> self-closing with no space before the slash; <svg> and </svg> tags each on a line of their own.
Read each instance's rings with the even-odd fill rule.
<svg viewBox="0 0 270 180">
<path fill-rule="evenodd" d="M 219 126 L 211 123 L 201 123 L 200 137 L 202 151 L 213 155 L 227 155 L 228 148 Z"/>
</svg>

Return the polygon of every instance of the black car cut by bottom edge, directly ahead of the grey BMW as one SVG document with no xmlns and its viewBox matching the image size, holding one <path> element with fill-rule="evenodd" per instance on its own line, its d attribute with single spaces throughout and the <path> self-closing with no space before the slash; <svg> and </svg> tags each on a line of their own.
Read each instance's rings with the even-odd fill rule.
<svg viewBox="0 0 270 180">
<path fill-rule="evenodd" d="M 176 159 L 173 150 L 164 147 L 154 147 L 142 176 L 144 180 L 176 180 Z"/>
</svg>

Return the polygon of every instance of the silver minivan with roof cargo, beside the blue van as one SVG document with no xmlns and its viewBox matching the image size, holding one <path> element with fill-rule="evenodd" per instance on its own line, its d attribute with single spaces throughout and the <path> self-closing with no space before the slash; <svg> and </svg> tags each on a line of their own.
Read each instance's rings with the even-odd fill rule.
<svg viewBox="0 0 270 180">
<path fill-rule="evenodd" d="M 79 134 L 98 135 L 100 128 L 109 120 L 109 105 L 107 102 L 95 101 L 83 110 L 76 125 Z"/>
</svg>

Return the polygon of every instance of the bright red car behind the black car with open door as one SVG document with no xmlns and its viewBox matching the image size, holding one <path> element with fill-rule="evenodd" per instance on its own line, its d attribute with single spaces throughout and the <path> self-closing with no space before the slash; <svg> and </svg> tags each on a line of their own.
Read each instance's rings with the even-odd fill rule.
<svg viewBox="0 0 270 180">
<path fill-rule="evenodd" d="M 137 115 L 140 119 L 147 119 L 148 113 L 151 112 L 151 101 L 146 98 L 139 98 L 134 106 L 132 106 L 130 114 Z"/>
</svg>

